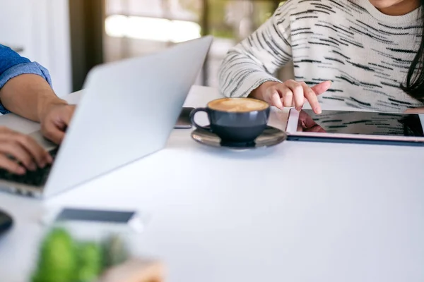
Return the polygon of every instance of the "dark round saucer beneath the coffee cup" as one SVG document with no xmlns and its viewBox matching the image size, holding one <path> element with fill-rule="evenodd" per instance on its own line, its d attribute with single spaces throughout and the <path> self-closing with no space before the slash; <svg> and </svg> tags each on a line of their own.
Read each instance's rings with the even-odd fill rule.
<svg viewBox="0 0 424 282">
<path fill-rule="evenodd" d="M 272 126 L 266 126 L 264 132 L 257 137 L 254 142 L 242 142 L 242 143 L 223 143 L 220 137 L 215 133 L 211 133 L 208 130 L 196 128 L 192 131 L 192 138 L 203 145 L 228 148 L 228 149 L 257 149 L 264 147 L 271 147 L 278 145 L 287 139 L 284 131 Z"/>
</svg>

